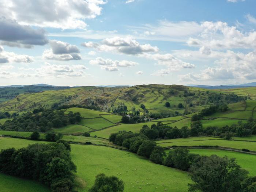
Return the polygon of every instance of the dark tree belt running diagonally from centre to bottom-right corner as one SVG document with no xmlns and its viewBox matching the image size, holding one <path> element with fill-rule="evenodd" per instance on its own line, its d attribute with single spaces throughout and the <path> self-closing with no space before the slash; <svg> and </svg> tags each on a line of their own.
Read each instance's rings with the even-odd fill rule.
<svg viewBox="0 0 256 192">
<path fill-rule="evenodd" d="M 255 192 L 256 177 L 249 177 L 233 158 L 200 156 L 184 148 L 172 149 L 166 154 L 163 147 L 148 140 L 142 132 L 112 133 L 109 141 L 154 163 L 188 171 L 194 181 L 189 184 L 189 192 Z"/>
</svg>

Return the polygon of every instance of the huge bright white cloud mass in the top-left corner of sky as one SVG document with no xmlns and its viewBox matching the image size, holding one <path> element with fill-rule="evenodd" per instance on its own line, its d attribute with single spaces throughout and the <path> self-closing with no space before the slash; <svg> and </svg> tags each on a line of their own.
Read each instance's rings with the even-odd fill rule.
<svg viewBox="0 0 256 192">
<path fill-rule="evenodd" d="M 84 19 L 101 14 L 103 0 L 0 0 L 0 13 L 18 23 L 61 29 L 85 29 Z"/>
</svg>

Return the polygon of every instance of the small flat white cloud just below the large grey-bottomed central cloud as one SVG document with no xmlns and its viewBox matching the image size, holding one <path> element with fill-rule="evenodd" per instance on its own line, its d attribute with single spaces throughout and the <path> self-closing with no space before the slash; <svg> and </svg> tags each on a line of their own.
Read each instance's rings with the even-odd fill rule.
<svg viewBox="0 0 256 192">
<path fill-rule="evenodd" d="M 90 60 L 91 65 L 100 65 L 101 69 L 105 69 L 106 71 L 118 71 L 118 67 L 132 67 L 138 65 L 138 63 L 133 61 L 117 61 L 111 59 L 103 59 L 101 57 L 97 57 L 95 60 Z"/>
</svg>

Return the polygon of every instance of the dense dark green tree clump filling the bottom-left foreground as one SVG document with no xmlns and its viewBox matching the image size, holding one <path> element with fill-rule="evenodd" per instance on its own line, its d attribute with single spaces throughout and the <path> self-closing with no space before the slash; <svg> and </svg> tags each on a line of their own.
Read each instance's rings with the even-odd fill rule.
<svg viewBox="0 0 256 192">
<path fill-rule="evenodd" d="M 70 146 L 64 140 L 0 152 L 1 173 L 38 180 L 50 186 L 54 192 L 73 191 L 75 171 Z"/>
</svg>

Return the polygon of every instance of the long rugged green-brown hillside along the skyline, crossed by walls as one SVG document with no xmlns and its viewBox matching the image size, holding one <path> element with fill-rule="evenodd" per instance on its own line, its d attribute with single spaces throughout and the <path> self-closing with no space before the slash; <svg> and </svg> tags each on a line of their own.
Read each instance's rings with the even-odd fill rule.
<svg viewBox="0 0 256 192">
<path fill-rule="evenodd" d="M 49 88 L 49 87 L 48 87 Z M 57 88 L 56 88 L 57 89 Z M 238 97 L 240 96 L 240 97 Z M 255 97 L 256 88 L 207 90 L 181 85 L 138 85 L 133 87 L 76 87 L 62 90 L 48 90 L 40 93 L 23 93 L 14 99 L 0 103 L 0 110 L 32 111 L 35 108 L 50 108 L 60 105 L 97 106 L 111 112 L 118 106 L 127 106 L 128 111 L 142 113 L 188 114 L 219 103 L 229 104 Z M 170 107 L 165 103 L 169 102 Z M 182 105 L 179 106 L 179 103 Z M 141 108 L 144 104 L 145 109 Z"/>
</svg>

